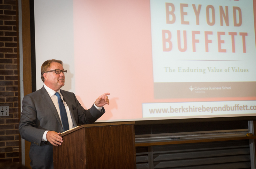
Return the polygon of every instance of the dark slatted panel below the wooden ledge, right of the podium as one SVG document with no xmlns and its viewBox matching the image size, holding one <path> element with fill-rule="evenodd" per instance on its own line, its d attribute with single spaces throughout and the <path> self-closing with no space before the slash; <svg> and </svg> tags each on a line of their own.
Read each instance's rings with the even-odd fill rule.
<svg viewBox="0 0 256 169">
<path fill-rule="evenodd" d="M 137 169 L 251 169 L 249 140 L 140 147 L 136 160 Z"/>
</svg>

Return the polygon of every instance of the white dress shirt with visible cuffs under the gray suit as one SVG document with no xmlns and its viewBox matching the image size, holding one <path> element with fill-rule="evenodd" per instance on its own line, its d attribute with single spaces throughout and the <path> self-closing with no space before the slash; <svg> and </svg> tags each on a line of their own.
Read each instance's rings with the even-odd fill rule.
<svg viewBox="0 0 256 169">
<path fill-rule="evenodd" d="M 56 92 L 55 92 L 54 90 L 50 89 L 50 88 L 49 88 L 48 86 L 46 86 L 45 84 L 44 84 L 44 88 L 45 88 L 45 90 L 48 92 L 49 96 L 51 97 L 52 102 L 53 102 L 54 106 L 56 107 L 56 110 L 57 110 L 57 112 L 58 112 L 58 114 L 59 114 L 59 117 L 60 117 L 60 107 L 59 107 L 58 97 L 55 95 Z M 58 92 L 60 93 L 60 90 L 59 90 Z M 61 99 L 63 100 L 63 97 L 62 97 L 61 93 L 60 93 L 60 97 L 61 97 Z M 63 103 L 64 103 L 64 105 L 65 105 L 66 112 L 67 112 L 67 116 L 68 116 L 68 126 L 69 126 L 69 129 L 73 129 L 73 128 L 74 128 L 74 125 L 73 125 L 73 121 L 72 121 L 72 119 L 71 119 L 71 115 L 70 115 L 70 111 L 69 111 L 68 105 L 67 105 L 67 103 L 66 103 L 65 101 L 64 101 Z M 97 107 L 97 106 L 95 105 L 95 103 L 94 103 L 94 106 L 95 106 L 99 111 L 101 111 L 101 108 L 102 108 L 102 107 Z M 60 117 L 60 121 L 61 121 L 61 117 Z M 62 123 L 62 121 L 61 121 L 61 123 Z M 43 137 L 42 137 L 42 141 L 47 141 L 47 139 L 46 139 L 47 132 L 48 132 L 48 131 L 45 131 L 45 132 L 44 132 L 44 135 L 43 135 Z"/>
</svg>

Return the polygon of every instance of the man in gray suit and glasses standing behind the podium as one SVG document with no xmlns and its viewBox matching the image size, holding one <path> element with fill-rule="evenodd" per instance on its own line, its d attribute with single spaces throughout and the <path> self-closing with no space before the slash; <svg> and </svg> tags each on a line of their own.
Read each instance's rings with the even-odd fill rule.
<svg viewBox="0 0 256 169">
<path fill-rule="evenodd" d="M 53 146 L 63 143 L 60 133 L 78 124 L 90 124 L 105 113 L 104 105 L 109 104 L 104 93 L 92 107 L 85 110 L 74 93 L 60 90 L 65 84 L 63 62 L 47 60 L 41 67 L 44 86 L 24 96 L 20 117 L 20 136 L 31 142 L 29 157 L 33 169 L 53 169 Z"/>
</svg>

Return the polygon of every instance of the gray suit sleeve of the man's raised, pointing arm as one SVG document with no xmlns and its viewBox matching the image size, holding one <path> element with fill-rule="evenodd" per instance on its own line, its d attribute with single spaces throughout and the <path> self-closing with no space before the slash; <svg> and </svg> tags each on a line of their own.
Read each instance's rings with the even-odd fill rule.
<svg viewBox="0 0 256 169">
<path fill-rule="evenodd" d="M 81 104 L 76 99 L 76 96 L 74 94 L 75 100 L 76 100 L 76 108 L 77 108 L 77 114 L 78 114 L 78 123 L 79 124 L 91 124 L 98 120 L 102 114 L 105 113 L 104 107 L 102 107 L 101 111 L 99 111 L 94 105 L 88 110 L 85 110 L 84 107 L 81 106 Z"/>
</svg>

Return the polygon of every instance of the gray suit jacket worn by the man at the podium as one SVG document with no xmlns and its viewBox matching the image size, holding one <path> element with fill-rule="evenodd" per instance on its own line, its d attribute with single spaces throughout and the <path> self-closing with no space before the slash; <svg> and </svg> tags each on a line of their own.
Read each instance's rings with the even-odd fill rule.
<svg viewBox="0 0 256 169">
<path fill-rule="evenodd" d="M 74 93 L 60 90 L 65 99 L 74 127 L 79 124 L 90 124 L 105 112 L 101 112 L 92 105 L 85 110 L 76 99 Z M 31 142 L 29 157 L 31 167 L 36 169 L 53 169 L 52 144 L 41 142 L 46 130 L 63 132 L 59 114 L 48 92 L 42 87 L 40 90 L 24 96 L 20 117 L 20 136 Z"/>
</svg>

